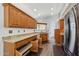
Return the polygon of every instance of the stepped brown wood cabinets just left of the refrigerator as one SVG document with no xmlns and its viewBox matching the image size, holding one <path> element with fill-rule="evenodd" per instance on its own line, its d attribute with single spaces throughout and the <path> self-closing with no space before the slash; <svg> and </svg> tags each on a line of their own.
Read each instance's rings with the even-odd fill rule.
<svg viewBox="0 0 79 59">
<path fill-rule="evenodd" d="M 59 20 L 59 29 L 55 29 L 55 43 L 57 46 L 62 46 L 64 37 L 64 19 Z"/>
</svg>

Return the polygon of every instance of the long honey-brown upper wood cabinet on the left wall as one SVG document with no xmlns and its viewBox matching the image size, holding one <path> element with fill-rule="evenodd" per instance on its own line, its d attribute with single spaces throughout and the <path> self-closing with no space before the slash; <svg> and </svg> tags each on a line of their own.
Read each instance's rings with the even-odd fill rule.
<svg viewBox="0 0 79 59">
<path fill-rule="evenodd" d="M 10 3 L 4 3 L 4 26 L 16 28 L 36 28 L 37 21 Z"/>
</svg>

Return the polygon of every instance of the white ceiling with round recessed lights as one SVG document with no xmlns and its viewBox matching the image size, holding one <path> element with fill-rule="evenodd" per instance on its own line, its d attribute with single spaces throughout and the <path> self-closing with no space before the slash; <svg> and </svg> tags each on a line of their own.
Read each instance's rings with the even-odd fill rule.
<svg viewBox="0 0 79 59">
<path fill-rule="evenodd" d="M 65 3 L 13 3 L 36 19 L 50 19 L 59 15 Z"/>
</svg>

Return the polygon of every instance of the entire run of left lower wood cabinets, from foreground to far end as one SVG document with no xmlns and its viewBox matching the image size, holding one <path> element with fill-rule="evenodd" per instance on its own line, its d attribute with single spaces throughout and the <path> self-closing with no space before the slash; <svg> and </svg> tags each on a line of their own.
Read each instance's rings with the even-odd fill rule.
<svg viewBox="0 0 79 59">
<path fill-rule="evenodd" d="M 42 40 L 48 41 L 47 33 L 42 33 L 42 38 L 35 35 L 18 42 L 4 40 L 4 56 L 26 56 L 30 51 L 38 53 L 38 49 L 42 48 Z"/>
</svg>

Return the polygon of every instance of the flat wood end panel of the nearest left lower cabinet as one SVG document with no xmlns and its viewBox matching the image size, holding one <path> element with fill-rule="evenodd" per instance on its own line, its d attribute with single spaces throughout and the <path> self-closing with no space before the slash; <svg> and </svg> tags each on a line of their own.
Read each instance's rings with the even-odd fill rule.
<svg viewBox="0 0 79 59">
<path fill-rule="evenodd" d="M 4 56 L 15 55 L 15 44 L 4 41 Z"/>
</svg>

